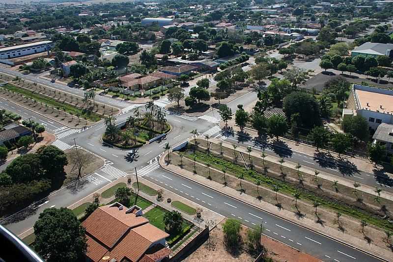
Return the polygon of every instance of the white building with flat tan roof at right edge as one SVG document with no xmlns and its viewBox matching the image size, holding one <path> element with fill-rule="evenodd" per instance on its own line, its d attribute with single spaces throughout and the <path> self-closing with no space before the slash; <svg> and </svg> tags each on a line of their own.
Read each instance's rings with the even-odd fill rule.
<svg viewBox="0 0 393 262">
<path fill-rule="evenodd" d="M 393 124 L 393 90 L 354 84 L 342 110 L 342 117 L 361 115 L 369 129 L 382 123 Z"/>
</svg>

